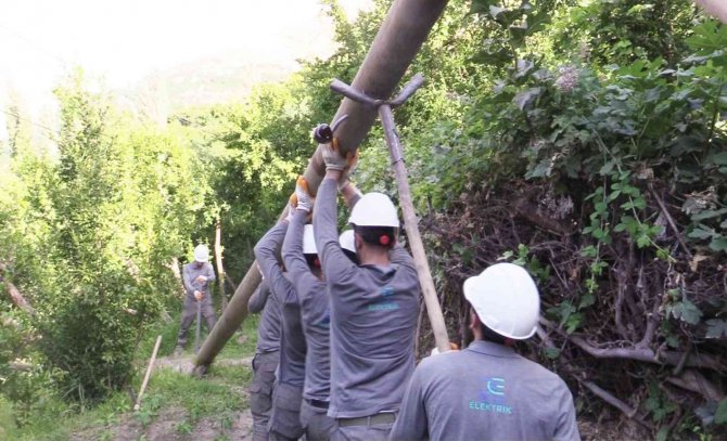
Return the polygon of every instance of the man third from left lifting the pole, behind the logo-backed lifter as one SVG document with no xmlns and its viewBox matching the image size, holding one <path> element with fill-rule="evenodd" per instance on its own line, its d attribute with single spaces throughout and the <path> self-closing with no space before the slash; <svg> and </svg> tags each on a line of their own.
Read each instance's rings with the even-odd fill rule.
<svg viewBox="0 0 727 441">
<path fill-rule="evenodd" d="M 295 198 L 295 210 L 288 226 L 282 256 L 301 302 L 307 347 L 301 424 L 306 441 L 328 441 L 334 425 L 333 418 L 327 415 L 331 380 L 329 301 L 313 225 L 306 224 L 314 202 L 303 177 L 296 182 Z"/>
</svg>

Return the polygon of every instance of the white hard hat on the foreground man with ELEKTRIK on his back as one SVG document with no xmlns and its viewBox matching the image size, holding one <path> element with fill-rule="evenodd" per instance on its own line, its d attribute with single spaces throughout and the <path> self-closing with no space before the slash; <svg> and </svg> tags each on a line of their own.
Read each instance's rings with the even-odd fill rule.
<svg viewBox="0 0 727 441">
<path fill-rule="evenodd" d="M 524 340 L 535 334 L 540 296 L 533 277 L 513 263 L 497 263 L 464 281 L 464 298 L 480 321 L 497 334 Z"/>
</svg>

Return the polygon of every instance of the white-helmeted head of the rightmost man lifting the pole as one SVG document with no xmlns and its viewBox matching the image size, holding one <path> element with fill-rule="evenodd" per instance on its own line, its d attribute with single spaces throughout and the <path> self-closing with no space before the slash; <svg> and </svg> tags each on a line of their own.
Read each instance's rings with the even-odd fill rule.
<svg viewBox="0 0 727 441">
<path fill-rule="evenodd" d="M 396 243 L 399 217 L 392 199 L 383 193 L 367 193 L 350 211 L 348 223 L 364 242 L 391 248 Z"/>
</svg>

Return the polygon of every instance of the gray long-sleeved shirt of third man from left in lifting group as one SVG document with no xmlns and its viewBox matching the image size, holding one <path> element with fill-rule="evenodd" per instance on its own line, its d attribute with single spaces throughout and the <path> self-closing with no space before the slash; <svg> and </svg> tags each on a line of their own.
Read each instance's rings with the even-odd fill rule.
<svg viewBox="0 0 727 441">
<path fill-rule="evenodd" d="M 303 397 L 328 401 L 331 363 L 329 354 L 330 314 L 326 283 L 316 277 L 303 255 L 303 231 L 308 213 L 295 210 L 283 243 L 283 262 L 301 301 L 305 334 L 306 379 Z"/>
</svg>

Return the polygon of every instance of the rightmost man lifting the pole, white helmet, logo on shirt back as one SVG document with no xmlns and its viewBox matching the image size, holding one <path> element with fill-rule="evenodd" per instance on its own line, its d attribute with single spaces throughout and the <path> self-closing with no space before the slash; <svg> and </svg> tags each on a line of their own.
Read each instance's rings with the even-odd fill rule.
<svg viewBox="0 0 727 441">
<path fill-rule="evenodd" d="M 421 291 L 413 259 L 396 243 L 399 220 L 386 195 L 365 194 L 352 209 L 360 265 L 343 252 L 336 194 L 350 164 L 334 144 L 323 145 L 326 176 L 314 210 L 331 297 L 331 439 L 385 440 L 414 368 Z"/>
</svg>

